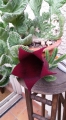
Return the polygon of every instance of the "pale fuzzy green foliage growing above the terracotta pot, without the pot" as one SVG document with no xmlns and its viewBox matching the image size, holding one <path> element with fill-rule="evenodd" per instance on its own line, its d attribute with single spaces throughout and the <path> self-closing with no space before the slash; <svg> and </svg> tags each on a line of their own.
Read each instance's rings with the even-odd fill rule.
<svg viewBox="0 0 66 120">
<path fill-rule="evenodd" d="M 45 39 L 57 40 L 61 38 L 63 34 L 63 26 L 65 18 L 62 15 L 60 8 L 66 3 L 66 0 L 44 0 L 49 5 L 49 10 L 47 12 L 43 12 L 40 15 L 40 10 L 42 6 L 43 0 L 30 0 L 29 5 L 35 15 L 34 24 L 35 28 L 38 28 L 39 32 L 35 32 L 35 35 L 38 37 L 42 37 Z M 43 8 L 44 9 L 44 8 Z M 54 16 L 54 18 L 53 18 Z M 53 20 L 54 19 L 54 20 Z M 58 22 L 58 31 L 56 31 L 56 25 L 53 24 L 53 21 Z M 54 33 L 58 32 L 58 34 Z"/>
</svg>

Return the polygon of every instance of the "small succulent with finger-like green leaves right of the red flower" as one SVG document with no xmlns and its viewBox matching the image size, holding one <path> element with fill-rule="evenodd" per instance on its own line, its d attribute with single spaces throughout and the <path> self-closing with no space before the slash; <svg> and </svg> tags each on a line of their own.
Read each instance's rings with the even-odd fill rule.
<svg viewBox="0 0 66 120">
<path fill-rule="evenodd" d="M 57 68 L 58 63 L 66 59 L 66 54 L 61 55 L 60 57 L 57 57 L 57 54 L 58 54 L 58 48 L 54 48 L 51 55 L 48 50 L 45 51 L 45 57 L 49 63 L 49 69 L 51 70 L 54 68 Z M 56 80 L 56 77 L 53 75 L 48 75 L 48 76 L 45 76 L 44 79 L 50 82 L 50 81 Z"/>
</svg>

